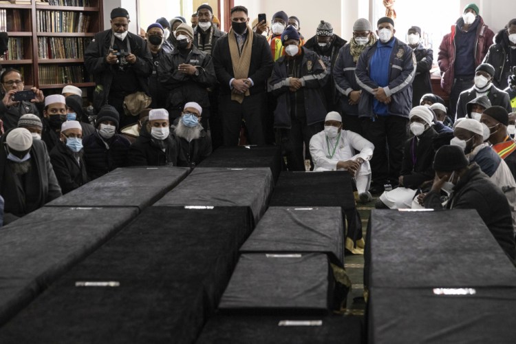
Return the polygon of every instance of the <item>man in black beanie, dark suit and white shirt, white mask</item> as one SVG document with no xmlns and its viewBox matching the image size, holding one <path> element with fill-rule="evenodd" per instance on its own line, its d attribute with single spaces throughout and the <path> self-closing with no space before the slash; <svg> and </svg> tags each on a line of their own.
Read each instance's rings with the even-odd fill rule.
<svg viewBox="0 0 516 344">
<path fill-rule="evenodd" d="M 475 69 L 475 85 L 460 93 L 455 120 L 465 117 L 468 114 L 466 105 L 479 96 L 487 96 L 491 106 L 501 106 L 507 112 L 512 111 L 508 93 L 493 85 L 494 75 L 495 68 L 489 63 L 482 63 Z"/>
</svg>

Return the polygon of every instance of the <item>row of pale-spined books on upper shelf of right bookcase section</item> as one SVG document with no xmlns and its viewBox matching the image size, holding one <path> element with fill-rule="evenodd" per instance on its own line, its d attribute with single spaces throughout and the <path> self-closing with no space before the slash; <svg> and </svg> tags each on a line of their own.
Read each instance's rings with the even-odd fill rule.
<svg viewBox="0 0 516 344">
<path fill-rule="evenodd" d="M 83 12 L 36 11 L 38 32 L 88 32 L 90 21 Z"/>
</svg>

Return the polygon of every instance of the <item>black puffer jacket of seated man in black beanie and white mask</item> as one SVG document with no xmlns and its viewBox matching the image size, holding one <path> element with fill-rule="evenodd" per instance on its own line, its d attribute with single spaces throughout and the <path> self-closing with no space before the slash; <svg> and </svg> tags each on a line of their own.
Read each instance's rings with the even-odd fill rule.
<svg viewBox="0 0 516 344">
<path fill-rule="evenodd" d="M 127 166 L 127 153 L 131 142 L 118 133 L 104 141 L 98 135 L 98 131 L 94 131 L 83 139 L 83 146 L 86 170 L 91 180 L 105 175 L 117 167 Z"/>
</svg>

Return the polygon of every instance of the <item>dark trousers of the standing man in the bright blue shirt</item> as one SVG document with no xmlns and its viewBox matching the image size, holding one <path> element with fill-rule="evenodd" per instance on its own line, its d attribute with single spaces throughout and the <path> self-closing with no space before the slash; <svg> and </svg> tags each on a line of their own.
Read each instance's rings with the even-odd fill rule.
<svg viewBox="0 0 516 344">
<path fill-rule="evenodd" d="M 378 116 L 374 121 L 370 118 L 363 120 L 363 136 L 374 144 L 370 161 L 372 184 L 398 184 L 408 122 L 408 118 L 400 116 Z"/>
</svg>

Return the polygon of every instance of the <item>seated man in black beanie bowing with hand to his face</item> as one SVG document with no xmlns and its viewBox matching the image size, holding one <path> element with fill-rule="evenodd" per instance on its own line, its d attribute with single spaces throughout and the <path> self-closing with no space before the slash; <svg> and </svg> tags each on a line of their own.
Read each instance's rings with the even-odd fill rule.
<svg viewBox="0 0 516 344">
<path fill-rule="evenodd" d="M 470 164 L 459 147 L 443 146 L 433 161 L 436 177 L 432 189 L 423 198 L 425 208 L 441 209 L 440 191 L 451 183 L 453 189 L 448 209 L 475 209 L 511 261 L 516 259 L 510 206 L 502 190 L 480 170 Z"/>
</svg>

